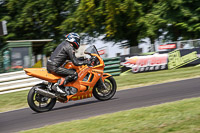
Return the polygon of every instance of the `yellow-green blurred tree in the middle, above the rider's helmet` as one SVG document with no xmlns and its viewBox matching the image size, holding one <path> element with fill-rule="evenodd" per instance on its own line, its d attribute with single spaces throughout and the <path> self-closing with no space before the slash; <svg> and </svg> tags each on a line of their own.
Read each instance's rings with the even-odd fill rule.
<svg viewBox="0 0 200 133">
<path fill-rule="evenodd" d="M 142 5 L 135 0 L 81 0 L 73 16 L 60 28 L 87 33 L 90 36 L 105 35 L 106 40 L 127 40 L 129 45 L 138 44 Z"/>
</svg>

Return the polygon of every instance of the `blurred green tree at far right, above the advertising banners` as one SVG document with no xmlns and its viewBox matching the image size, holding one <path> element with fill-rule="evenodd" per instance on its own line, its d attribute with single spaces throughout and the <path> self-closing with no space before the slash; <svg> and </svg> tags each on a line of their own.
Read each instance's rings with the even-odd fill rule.
<svg viewBox="0 0 200 133">
<path fill-rule="evenodd" d="M 141 4 L 138 39 L 149 37 L 153 44 L 161 35 L 168 41 L 199 38 L 199 0 L 144 0 Z"/>
</svg>

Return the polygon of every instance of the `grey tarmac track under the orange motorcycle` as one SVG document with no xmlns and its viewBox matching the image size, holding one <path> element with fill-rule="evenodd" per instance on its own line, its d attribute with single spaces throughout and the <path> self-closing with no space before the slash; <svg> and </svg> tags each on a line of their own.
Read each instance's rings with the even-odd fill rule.
<svg viewBox="0 0 200 133">
<path fill-rule="evenodd" d="M 89 98 L 57 103 L 52 111 L 35 113 L 29 108 L 0 113 L 0 132 L 10 133 L 39 128 L 63 121 L 151 106 L 200 96 L 200 78 L 118 91 L 109 101 Z"/>
</svg>

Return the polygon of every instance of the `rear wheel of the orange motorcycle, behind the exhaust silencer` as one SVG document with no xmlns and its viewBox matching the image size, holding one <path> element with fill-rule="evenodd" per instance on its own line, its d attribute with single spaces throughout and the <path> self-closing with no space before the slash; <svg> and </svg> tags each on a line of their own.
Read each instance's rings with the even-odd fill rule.
<svg viewBox="0 0 200 133">
<path fill-rule="evenodd" d="M 35 112 L 45 112 L 51 110 L 56 104 L 56 98 L 49 98 L 38 94 L 35 91 L 35 88 L 47 90 L 47 85 L 37 84 L 31 88 L 27 97 L 29 107 Z"/>
</svg>

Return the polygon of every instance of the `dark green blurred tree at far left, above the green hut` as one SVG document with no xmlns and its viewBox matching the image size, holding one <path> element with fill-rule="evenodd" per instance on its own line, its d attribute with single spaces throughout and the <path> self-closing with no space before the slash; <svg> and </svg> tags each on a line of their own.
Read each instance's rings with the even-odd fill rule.
<svg viewBox="0 0 200 133">
<path fill-rule="evenodd" d="M 77 7 L 77 0 L 7 0 L 7 39 L 42 39 L 63 37 L 59 25 Z"/>
</svg>

